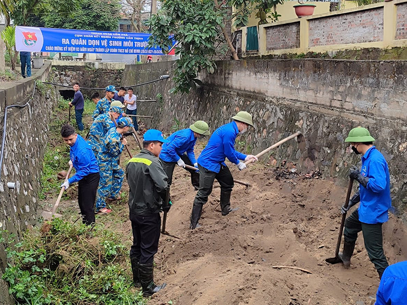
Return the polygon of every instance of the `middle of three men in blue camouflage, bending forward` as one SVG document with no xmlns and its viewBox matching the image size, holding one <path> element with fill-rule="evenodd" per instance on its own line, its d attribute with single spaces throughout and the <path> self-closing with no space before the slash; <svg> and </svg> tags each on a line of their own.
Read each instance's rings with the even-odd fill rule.
<svg viewBox="0 0 407 305">
<path fill-rule="evenodd" d="M 104 136 L 107 132 L 115 127 L 115 124 L 112 121 L 113 119 L 117 119 L 120 114 L 123 113 L 123 109 L 119 106 L 112 106 L 110 107 L 107 113 L 103 113 L 99 115 L 92 123 L 91 130 L 89 131 L 89 136 L 87 142 L 91 145 L 92 150 L 98 158 L 98 154 L 100 151 L 100 145 L 103 141 Z"/>
</svg>

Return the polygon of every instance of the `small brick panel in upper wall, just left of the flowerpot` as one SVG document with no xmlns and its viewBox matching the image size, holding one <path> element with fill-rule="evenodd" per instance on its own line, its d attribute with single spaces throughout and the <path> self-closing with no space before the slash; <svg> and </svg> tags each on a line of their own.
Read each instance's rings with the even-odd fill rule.
<svg viewBox="0 0 407 305">
<path fill-rule="evenodd" d="M 266 49 L 295 49 L 300 47 L 300 22 L 266 27 Z"/>
</svg>

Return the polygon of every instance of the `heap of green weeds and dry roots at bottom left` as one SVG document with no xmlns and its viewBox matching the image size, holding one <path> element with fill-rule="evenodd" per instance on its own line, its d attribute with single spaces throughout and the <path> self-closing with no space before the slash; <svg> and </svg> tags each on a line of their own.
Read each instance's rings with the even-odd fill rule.
<svg viewBox="0 0 407 305">
<path fill-rule="evenodd" d="M 132 285 L 120 237 L 103 225 L 54 219 L 7 249 L 14 265 L 3 279 L 17 305 L 147 304 Z"/>
</svg>

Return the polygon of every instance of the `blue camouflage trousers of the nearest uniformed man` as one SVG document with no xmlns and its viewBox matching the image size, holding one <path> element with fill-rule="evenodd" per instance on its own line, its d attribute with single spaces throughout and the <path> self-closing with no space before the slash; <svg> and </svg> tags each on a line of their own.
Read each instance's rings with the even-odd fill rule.
<svg viewBox="0 0 407 305">
<path fill-rule="evenodd" d="M 106 199 L 119 197 L 120 189 L 124 179 L 124 171 L 120 166 L 113 162 L 99 162 L 99 187 L 96 195 L 96 211 L 106 207 Z"/>
</svg>

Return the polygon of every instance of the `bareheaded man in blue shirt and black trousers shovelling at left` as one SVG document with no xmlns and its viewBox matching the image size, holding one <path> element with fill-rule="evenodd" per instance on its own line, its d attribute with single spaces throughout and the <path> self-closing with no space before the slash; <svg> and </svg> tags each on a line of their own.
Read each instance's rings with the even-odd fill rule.
<svg viewBox="0 0 407 305">
<path fill-rule="evenodd" d="M 64 125 L 61 136 L 71 147 L 69 165 L 73 165 L 76 173 L 61 185 L 65 190 L 74 182 L 78 182 L 78 203 L 82 222 L 86 225 L 95 223 L 94 204 L 96 190 L 99 185 L 99 166 L 91 146 L 78 134 L 71 125 Z"/>
</svg>

